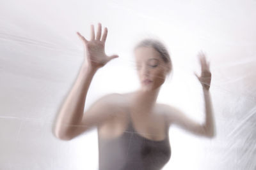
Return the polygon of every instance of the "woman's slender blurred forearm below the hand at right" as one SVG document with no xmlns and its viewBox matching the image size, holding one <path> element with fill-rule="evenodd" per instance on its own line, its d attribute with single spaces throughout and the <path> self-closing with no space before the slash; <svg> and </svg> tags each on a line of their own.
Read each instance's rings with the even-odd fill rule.
<svg viewBox="0 0 256 170">
<path fill-rule="evenodd" d="M 205 131 L 207 135 L 213 137 L 216 135 L 214 115 L 212 113 L 212 102 L 209 89 L 203 87 L 204 99 L 205 99 Z"/>
</svg>

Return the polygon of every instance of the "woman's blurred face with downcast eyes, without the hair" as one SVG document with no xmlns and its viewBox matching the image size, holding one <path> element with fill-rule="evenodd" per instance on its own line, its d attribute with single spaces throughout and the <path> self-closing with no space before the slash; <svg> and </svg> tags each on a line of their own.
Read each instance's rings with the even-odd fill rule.
<svg viewBox="0 0 256 170">
<path fill-rule="evenodd" d="M 139 47 L 134 51 L 141 88 L 154 90 L 165 80 L 167 66 L 159 52 L 152 47 Z"/>
</svg>

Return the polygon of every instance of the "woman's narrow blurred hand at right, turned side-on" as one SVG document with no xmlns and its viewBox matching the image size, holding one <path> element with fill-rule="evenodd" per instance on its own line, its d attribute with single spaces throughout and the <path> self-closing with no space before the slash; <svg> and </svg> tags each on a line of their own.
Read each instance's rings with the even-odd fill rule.
<svg viewBox="0 0 256 170">
<path fill-rule="evenodd" d="M 204 52 L 199 52 L 198 57 L 201 64 L 201 76 L 198 76 L 195 72 L 195 76 L 198 78 L 205 90 L 209 90 L 211 85 L 211 71 L 209 69 L 210 63 L 206 61 Z"/>
</svg>

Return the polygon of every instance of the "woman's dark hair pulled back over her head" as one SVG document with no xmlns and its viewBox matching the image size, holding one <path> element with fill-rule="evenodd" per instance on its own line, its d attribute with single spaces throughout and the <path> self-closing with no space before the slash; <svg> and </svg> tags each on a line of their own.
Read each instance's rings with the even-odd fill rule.
<svg viewBox="0 0 256 170">
<path fill-rule="evenodd" d="M 168 50 L 164 46 L 161 41 L 153 38 L 145 38 L 141 40 L 135 47 L 134 50 L 140 47 L 152 47 L 154 48 L 157 52 L 161 54 L 162 59 L 166 64 L 168 64 L 168 74 L 172 72 L 172 60 L 170 58 L 170 55 L 168 53 Z"/>
</svg>

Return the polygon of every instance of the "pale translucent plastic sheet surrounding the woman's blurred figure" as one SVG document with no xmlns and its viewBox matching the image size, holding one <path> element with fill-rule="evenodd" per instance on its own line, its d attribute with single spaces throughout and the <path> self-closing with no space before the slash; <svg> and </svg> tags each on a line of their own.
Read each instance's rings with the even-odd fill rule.
<svg viewBox="0 0 256 170">
<path fill-rule="evenodd" d="M 106 53 L 85 110 L 96 99 L 138 87 L 132 47 L 163 41 L 173 76 L 157 99 L 204 121 L 196 54 L 211 65 L 216 137 L 170 127 L 172 156 L 163 169 L 256 169 L 256 1 L 1 1 L 0 169 L 97 169 L 97 129 L 71 141 L 52 134 L 54 118 L 83 61 L 76 31 L 108 27 Z"/>
</svg>

